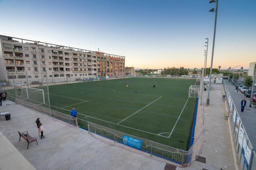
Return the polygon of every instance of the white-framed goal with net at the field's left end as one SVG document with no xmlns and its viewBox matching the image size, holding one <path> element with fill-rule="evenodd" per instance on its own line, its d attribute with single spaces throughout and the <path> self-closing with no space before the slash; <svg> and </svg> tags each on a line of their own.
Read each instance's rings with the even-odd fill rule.
<svg viewBox="0 0 256 170">
<path fill-rule="evenodd" d="M 17 98 L 36 105 L 45 104 L 45 93 L 43 89 L 21 88 L 21 91 Z"/>
</svg>

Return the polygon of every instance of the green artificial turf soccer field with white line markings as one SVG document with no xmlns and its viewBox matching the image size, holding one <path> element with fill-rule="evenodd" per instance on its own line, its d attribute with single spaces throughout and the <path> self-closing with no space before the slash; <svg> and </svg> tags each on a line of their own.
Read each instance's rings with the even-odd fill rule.
<svg viewBox="0 0 256 170">
<path fill-rule="evenodd" d="M 55 85 L 49 86 L 50 104 L 52 110 L 68 115 L 76 108 L 81 127 L 87 128 L 82 121 L 86 120 L 187 150 L 196 106 L 196 98 L 188 95 L 195 83 L 196 79 L 133 77 Z"/>
</svg>

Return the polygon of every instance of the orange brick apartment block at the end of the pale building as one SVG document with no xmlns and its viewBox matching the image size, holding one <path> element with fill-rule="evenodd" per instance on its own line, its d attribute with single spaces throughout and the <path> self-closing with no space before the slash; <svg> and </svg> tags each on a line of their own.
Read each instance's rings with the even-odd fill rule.
<svg viewBox="0 0 256 170">
<path fill-rule="evenodd" d="M 125 57 L 96 52 L 98 77 L 120 77 L 125 75 Z"/>
</svg>

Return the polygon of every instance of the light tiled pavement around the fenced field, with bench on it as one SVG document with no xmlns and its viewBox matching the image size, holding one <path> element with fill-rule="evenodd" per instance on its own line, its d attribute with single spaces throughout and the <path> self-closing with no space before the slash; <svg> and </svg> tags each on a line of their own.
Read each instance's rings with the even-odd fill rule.
<svg viewBox="0 0 256 170">
<path fill-rule="evenodd" d="M 206 163 L 195 161 L 190 167 L 180 168 L 166 164 L 165 160 L 153 159 L 149 154 L 114 143 L 108 139 L 103 143 L 88 134 L 87 131 L 70 127 L 63 122 L 16 105 L 7 101 L 0 108 L 1 112 L 10 112 L 11 120 L 0 120 L 0 131 L 38 170 L 76 170 L 76 169 L 146 169 L 146 170 L 233 170 L 234 160 L 230 149 L 228 121 L 224 120 L 225 105 L 222 101 L 223 89 L 221 84 L 213 84 L 211 90 L 211 105 L 205 107 L 205 144 L 201 156 Z M 206 101 L 206 93 L 203 101 Z M 7 103 L 11 105 L 6 105 Z M 204 103 L 205 104 L 205 103 Z M 29 144 L 21 139 L 17 131 L 28 131 L 31 136 L 38 138 L 35 124 L 37 117 L 44 124 L 45 139 L 38 139 Z M 200 123 L 200 122 L 198 122 Z M 125 149 L 124 149 L 125 148 Z"/>
</svg>

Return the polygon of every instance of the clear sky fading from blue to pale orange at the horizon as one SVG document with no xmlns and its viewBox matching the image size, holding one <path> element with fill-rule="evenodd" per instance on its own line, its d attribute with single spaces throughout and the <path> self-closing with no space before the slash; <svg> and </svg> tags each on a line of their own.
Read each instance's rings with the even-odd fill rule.
<svg viewBox="0 0 256 170">
<path fill-rule="evenodd" d="M 209 0 L 0 0 L 0 34 L 125 56 L 136 68 L 211 64 Z M 256 62 L 256 1 L 219 0 L 213 67 Z"/>
</svg>

